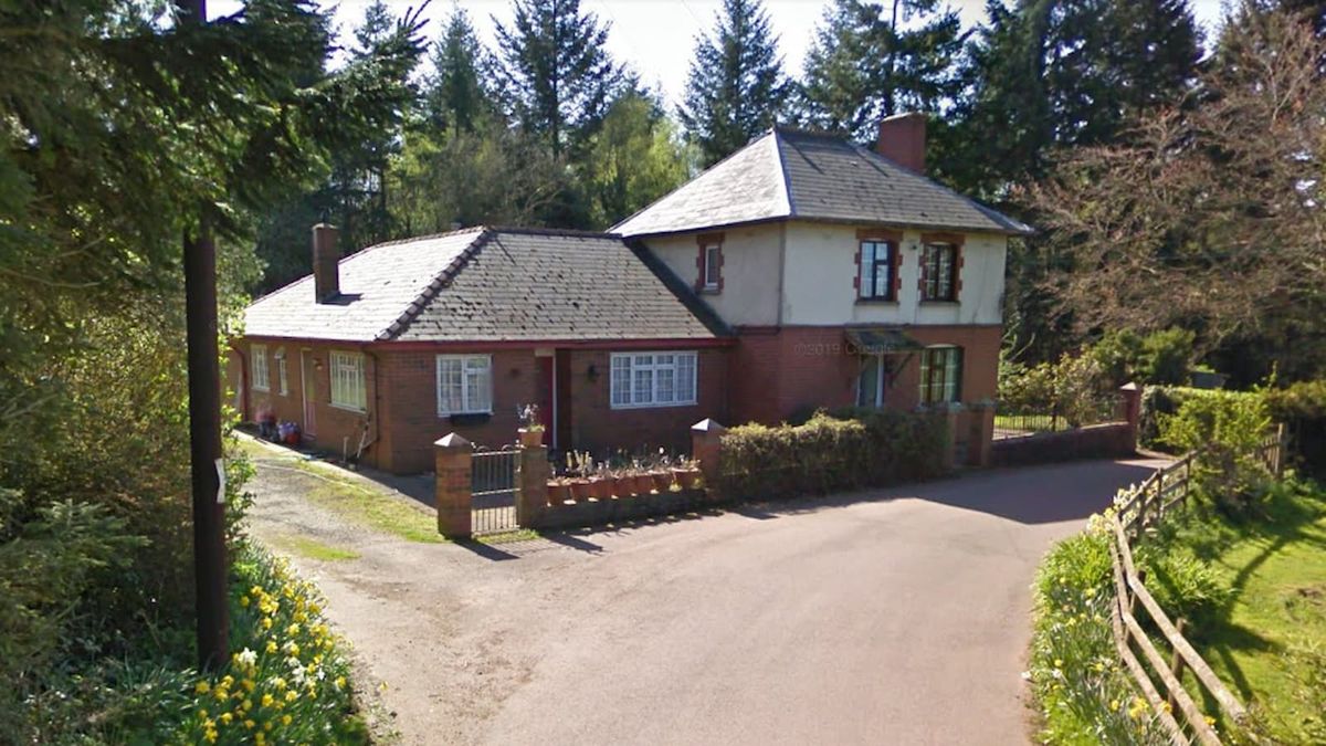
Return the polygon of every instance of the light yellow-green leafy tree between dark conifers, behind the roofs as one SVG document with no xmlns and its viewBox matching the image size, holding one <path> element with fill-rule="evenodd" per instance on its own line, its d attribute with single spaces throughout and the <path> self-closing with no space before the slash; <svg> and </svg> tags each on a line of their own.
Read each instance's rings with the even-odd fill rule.
<svg viewBox="0 0 1326 746">
<path fill-rule="evenodd" d="M 611 226 L 679 187 L 690 177 L 688 162 L 658 101 L 622 96 L 590 139 L 582 166 L 593 224 Z"/>
</svg>

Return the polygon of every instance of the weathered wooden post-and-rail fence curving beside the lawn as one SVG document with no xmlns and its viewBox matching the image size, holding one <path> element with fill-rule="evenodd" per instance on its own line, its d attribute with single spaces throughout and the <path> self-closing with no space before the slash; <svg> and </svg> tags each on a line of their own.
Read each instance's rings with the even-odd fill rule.
<svg viewBox="0 0 1326 746">
<path fill-rule="evenodd" d="M 1211 665 L 1183 636 L 1184 620 L 1174 623 L 1147 591 L 1146 573 L 1132 563 L 1132 546 L 1154 526 L 1176 508 L 1187 504 L 1192 494 L 1192 466 L 1196 454 L 1188 454 L 1164 469 L 1156 470 L 1146 482 L 1123 495 L 1110 518 L 1113 542 L 1110 555 L 1114 564 L 1115 603 L 1111 607 L 1114 644 L 1124 666 L 1136 680 L 1142 694 L 1158 714 L 1160 725 L 1174 743 L 1203 743 L 1219 746 L 1220 737 L 1207 721 L 1205 713 L 1183 686 L 1184 669 L 1192 670 L 1220 710 L 1238 725 L 1248 717 L 1246 709 L 1211 670 Z M 1258 446 L 1257 458 L 1272 474 L 1280 475 L 1284 457 L 1284 427 L 1268 435 Z M 1151 636 L 1142 627 L 1150 619 L 1159 631 L 1168 656 L 1162 654 Z M 1134 650 L 1142 653 L 1142 658 Z M 1144 662 L 1143 662 L 1144 661 Z M 1162 697 L 1162 692 L 1164 696 Z"/>
</svg>

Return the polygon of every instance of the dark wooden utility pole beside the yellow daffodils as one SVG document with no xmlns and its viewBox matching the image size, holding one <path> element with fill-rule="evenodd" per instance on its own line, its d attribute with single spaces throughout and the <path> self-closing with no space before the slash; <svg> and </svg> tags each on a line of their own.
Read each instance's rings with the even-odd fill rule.
<svg viewBox="0 0 1326 746">
<path fill-rule="evenodd" d="M 180 25 L 207 23 L 207 0 L 175 0 Z M 229 657 L 225 604 L 225 470 L 221 461 L 221 373 L 216 354 L 216 244 L 206 211 L 184 236 L 188 337 L 188 445 L 194 492 L 194 575 L 198 665 L 215 670 Z"/>
</svg>

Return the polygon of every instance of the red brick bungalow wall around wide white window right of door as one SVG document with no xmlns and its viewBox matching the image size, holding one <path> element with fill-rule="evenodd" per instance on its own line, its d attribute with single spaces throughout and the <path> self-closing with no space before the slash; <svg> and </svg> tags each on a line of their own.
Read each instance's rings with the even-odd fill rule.
<svg viewBox="0 0 1326 746">
<path fill-rule="evenodd" d="M 572 353 L 572 447 L 605 457 L 613 450 L 639 451 L 646 447 L 675 453 L 691 450 L 691 425 L 712 417 L 724 422 L 727 402 L 727 349 L 701 349 L 696 360 L 696 404 L 613 409 L 610 400 L 611 350 Z M 594 366 L 597 378 L 589 380 Z"/>
</svg>

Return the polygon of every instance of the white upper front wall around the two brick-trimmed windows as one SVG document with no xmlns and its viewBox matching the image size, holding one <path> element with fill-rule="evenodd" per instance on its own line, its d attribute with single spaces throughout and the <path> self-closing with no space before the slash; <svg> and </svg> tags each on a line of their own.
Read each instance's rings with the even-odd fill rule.
<svg viewBox="0 0 1326 746">
<path fill-rule="evenodd" d="M 1008 239 L 968 234 L 957 303 L 922 304 L 920 231 L 903 231 L 896 303 L 857 303 L 857 228 L 788 223 L 782 324 L 998 324 Z M 737 280 L 729 280 L 732 283 Z"/>
</svg>

